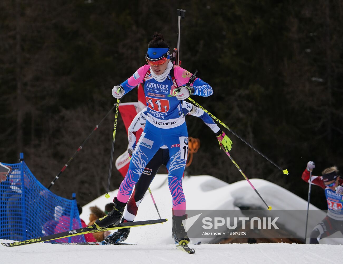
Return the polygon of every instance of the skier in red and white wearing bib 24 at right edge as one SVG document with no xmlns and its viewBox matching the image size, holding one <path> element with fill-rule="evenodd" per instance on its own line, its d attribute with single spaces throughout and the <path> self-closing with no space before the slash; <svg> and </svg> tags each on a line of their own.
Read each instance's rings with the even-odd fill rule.
<svg viewBox="0 0 343 264">
<path fill-rule="evenodd" d="M 315 163 L 309 161 L 301 179 L 308 182 L 310 170 L 315 168 Z M 311 183 L 324 189 L 328 203 L 327 216 L 318 223 L 311 232 L 310 244 L 319 244 L 319 240 L 341 231 L 343 234 L 343 180 L 338 175 L 337 167 L 330 167 L 322 171 L 322 176 L 312 176 Z"/>
</svg>

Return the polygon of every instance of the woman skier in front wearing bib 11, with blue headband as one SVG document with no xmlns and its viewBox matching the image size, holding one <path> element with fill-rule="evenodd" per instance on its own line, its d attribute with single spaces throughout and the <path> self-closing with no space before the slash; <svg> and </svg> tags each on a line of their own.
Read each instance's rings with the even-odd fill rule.
<svg viewBox="0 0 343 264">
<path fill-rule="evenodd" d="M 182 101 L 190 95 L 210 96 L 213 90 L 208 83 L 192 76 L 187 70 L 173 66 L 170 62 L 169 46 L 161 34 L 155 33 L 148 44 L 145 60 L 148 63 L 140 67 L 129 79 L 117 85 L 112 95 L 120 99 L 139 83 L 144 83 L 147 101 L 147 122 L 144 131 L 133 151 L 129 170 L 119 186 L 114 198 L 113 210 L 105 217 L 95 221 L 95 228 L 108 227 L 119 222 L 130 198 L 133 186 L 137 183 L 146 164 L 157 150 L 166 145 L 169 150 L 168 184 L 173 197 L 173 210 L 176 223 L 175 239 L 180 244 L 189 242 L 182 227 L 186 219 L 186 199 L 182 190 L 182 175 L 188 154 L 188 132 Z M 176 146 L 173 147 L 172 146 Z"/>
</svg>

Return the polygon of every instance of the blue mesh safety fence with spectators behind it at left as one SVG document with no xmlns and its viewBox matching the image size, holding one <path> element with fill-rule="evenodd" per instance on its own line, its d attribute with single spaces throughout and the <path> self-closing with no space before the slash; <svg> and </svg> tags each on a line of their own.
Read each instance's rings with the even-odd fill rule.
<svg viewBox="0 0 343 264">
<path fill-rule="evenodd" d="M 0 239 L 26 240 L 81 228 L 76 199 L 62 198 L 44 187 L 20 154 L 20 163 L 2 163 L 12 171 L 0 183 Z M 85 238 L 55 241 L 85 242 Z"/>
</svg>

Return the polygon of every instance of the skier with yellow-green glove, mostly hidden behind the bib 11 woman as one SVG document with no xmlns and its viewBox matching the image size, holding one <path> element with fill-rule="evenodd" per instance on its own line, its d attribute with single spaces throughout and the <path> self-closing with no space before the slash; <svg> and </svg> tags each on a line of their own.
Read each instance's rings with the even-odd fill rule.
<svg viewBox="0 0 343 264">
<path fill-rule="evenodd" d="M 226 152 L 231 150 L 232 141 L 214 123 L 213 119 L 209 116 L 209 114 L 205 113 L 202 109 L 187 102 L 182 103 L 182 112 L 185 115 L 187 114 L 187 115 L 200 117 L 203 120 L 203 122 L 206 125 L 208 125 L 212 129 L 212 131 L 216 134 L 220 147 L 223 147 Z M 136 137 L 134 135 L 134 132 L 138 131 L 141 128 L 141 126 L 145 125 L 146 118 L 147 118 L 146 114 L 147 114 L 147 107 L 141 110 L 133 118 L 129 126 L 129 129 L 128 129 L 129 154 L 133 152 L 133 149 L 135 148 L 135 145 L 136 145 Z M 173 148 L 173 146 L 171 147 Z M 167 146 L 164 145 L 156 152 L 154 157 L 149 161 L 149 163 L 144 168 L 142 175 L 140 176 L 138 182 L 134 186 L 134 190 L 124 210 L 121 222 L 132 222 L 134 220 L 134 218 L 137 215 L 138 206 L 142 202 L 144 195 L 146 191 L 148 190 L 150 183 L 154 179 L 159 167 L 161 167 L 161 165 L 164 164 L 168 168 L 168 162 L 169 162 L 169 151 L 168 151 Z M 178 216 L 175 216 L 174 220 L 177 218 Z M 102 243 L 103 244 L 116 244 L 120 241 L 126 240 L 127 237 L 129 236 L 129 233 L 130 233 L 130 228 L 118 229 L 117 232 L 105 238 L 104 241 L 102 241 Z M 174 230 L 173 230 L 173 235 L 174 235 Z"/>
</svg>

